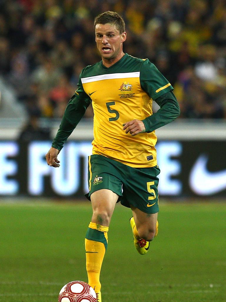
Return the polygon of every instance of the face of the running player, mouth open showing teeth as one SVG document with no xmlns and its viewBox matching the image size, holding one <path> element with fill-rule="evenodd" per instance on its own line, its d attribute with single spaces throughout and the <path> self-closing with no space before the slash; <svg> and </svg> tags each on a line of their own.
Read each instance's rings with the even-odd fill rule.
<svg viewBox="0 0 226 302">
<path fill-rule="evenodd" d="M 95 35 L 96 46 L 103 59 L 114 60 L 120 55 L 126 33 L 120 34 L 115 24 L 96 24 Z"/>
</svg>

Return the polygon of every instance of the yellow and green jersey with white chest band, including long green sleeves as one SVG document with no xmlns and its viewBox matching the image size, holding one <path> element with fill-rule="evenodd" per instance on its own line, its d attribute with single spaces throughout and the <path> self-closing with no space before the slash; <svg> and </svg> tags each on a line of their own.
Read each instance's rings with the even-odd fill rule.
<svg viewBox="0 0 226 302">
<path fill-rule="evenodd" d="M 160 100 L 162 95 L 172 89 L 171 84 L 148 59 L 125 54 L 108 68 L 102 61 L 87 66 L 80 74 L 78 89 L 67 105 L 52 146 L 62 148 L 92 101 L 93 154 L 115 159 L 131 167 L 155 166 L 157 138 L 153 130 L 176 118 L 178 114 L 175 111 L 178 110 L 174 108 L 172 114 L 174 106 L 170 104 L 170 120 L 166 120 L 164 114 L 159 116 L 161 121 L 158 118 L 156 120 L 156 113 L 152 115 L 152 100 Z M 154 118 L 150 120 L 152 116 Z M 143 120 L 147 132 L 136 136 L 126 134 L 122 124 L 133 119 Z"/>
</svg>

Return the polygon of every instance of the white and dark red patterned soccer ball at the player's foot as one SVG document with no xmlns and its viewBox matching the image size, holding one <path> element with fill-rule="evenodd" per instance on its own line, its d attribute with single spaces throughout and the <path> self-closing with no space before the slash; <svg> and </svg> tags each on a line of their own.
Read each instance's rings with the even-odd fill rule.
<svg viewBox="0 0 226 302">
<path fill-rule="evenodd" d="M 94 289 L 83 281 L 65 284 L 59 293 L 58 302 L 96 302 Z"/>
</svg>

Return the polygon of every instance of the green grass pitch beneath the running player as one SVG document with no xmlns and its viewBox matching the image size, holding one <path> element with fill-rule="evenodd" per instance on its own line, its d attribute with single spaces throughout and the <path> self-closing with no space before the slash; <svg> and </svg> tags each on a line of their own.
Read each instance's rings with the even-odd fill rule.
<svg viewBox="0 0 226 302">
<path fill-rule="evenodd" d="M 103 302 L 226 301 L 226 204 L 160 205 L 147 255 L 133 246 L 129 209 L 117 204 L 102 266 Z M 0 204 L 0 301 L 54 302 L 87 282 L 84 236 L 91 205 Z"/>
</svg>

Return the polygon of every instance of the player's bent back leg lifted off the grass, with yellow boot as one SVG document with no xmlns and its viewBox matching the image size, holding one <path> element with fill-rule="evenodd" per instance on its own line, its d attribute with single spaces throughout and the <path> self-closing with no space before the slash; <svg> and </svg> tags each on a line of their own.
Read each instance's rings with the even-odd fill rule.
<svg viewBox="0 0 226 302">
<path fill-rule="evenodd" d="M 137 251 L 144 255 L 149 249 L 149 242 L 158 234 L 158 213 L 147 214 L 131 205 L 133 217 L 130 225 L 133 230 L 134 246 Z"/>
</svg>

